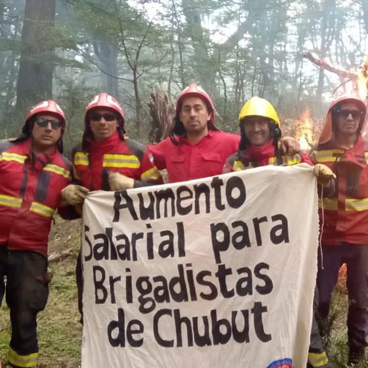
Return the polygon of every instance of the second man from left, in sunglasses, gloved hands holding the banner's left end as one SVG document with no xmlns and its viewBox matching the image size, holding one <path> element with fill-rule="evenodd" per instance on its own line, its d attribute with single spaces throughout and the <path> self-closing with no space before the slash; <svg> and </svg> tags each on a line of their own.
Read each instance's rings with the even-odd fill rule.
<svg viewBox="0 0 368 368">
<path fill-rule="evenodd" d="M 87 106 L 84 122 L 82 143 L 73 152 L 81 185 L 71 184 L 63 190 L 68 203 L 81 206 L 89 191 L 125 190 L 163 182 L 152 155 L 144 154 L 145 146 L 125 135 L 124 111 L 116 99 L 100 93 Z M 83 316 L 80 254 L 76 275 L 78 307 Z"/>
</svg>

